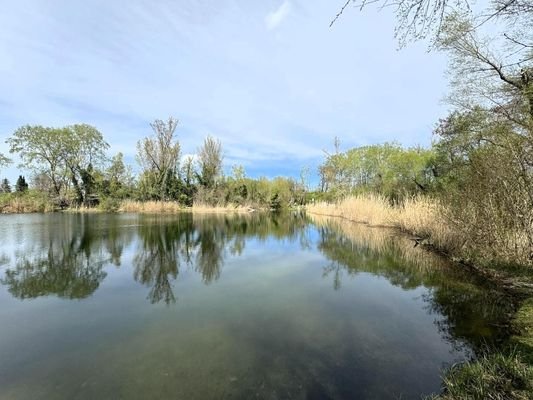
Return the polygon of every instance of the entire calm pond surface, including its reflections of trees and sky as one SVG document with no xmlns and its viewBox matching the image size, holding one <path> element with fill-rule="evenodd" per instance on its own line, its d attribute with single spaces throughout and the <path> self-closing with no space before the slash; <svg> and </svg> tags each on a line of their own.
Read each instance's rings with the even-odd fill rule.
<svg viewBox="0 0 533 400">
<path fill-rule="evenodd" d="M 0 399 L 387 399 L 501 341 L 505 296 L 384 229 L 0 216 Z"/>
</svg>

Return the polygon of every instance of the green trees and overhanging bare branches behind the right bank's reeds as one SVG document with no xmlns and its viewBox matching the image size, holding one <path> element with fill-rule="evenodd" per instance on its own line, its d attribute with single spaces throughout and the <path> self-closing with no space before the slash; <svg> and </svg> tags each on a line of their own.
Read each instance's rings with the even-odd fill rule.
<svg viewBox="0 0 533 400">
<path fill-rule="evenodd" d="M 533 3 L 346 2 L 394 7 L 401 44 L 427 38 L 449 58 L 451 110 L 428 149 L 395 143 L 327 153 L 324 197 L 372 191 L 401 203 L 432 196 L 479 259 L 533 262 Z M 519 254 L 520 253 L 520 254 Z M 517 254 L 520 257 L 517 257 Z M 529 261 L 527 261 L 529 260 Z"/>
</svg>

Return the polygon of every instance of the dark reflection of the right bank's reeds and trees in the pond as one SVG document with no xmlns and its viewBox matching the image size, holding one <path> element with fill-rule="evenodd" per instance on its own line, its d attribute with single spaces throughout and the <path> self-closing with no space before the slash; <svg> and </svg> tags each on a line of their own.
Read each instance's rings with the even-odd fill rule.
<svg viewBox="0 0 533 400">
<path fill-rule="evenodd" d="M 512 302 L 504 293 L 481 286 L 467 271 L 447 264 L 402 236 L 385 229 L 353 223 L 317 220 L 318 249 L 331 261 L 324 276 L 333 274 L 339 289 L 343 273 L 370 272 L 405 290 L 425 286 L 427 310 L 438 316 L 439 331 L 455 347 L 473 350 L 498 343 L 508 332 Z"/>
</svg>

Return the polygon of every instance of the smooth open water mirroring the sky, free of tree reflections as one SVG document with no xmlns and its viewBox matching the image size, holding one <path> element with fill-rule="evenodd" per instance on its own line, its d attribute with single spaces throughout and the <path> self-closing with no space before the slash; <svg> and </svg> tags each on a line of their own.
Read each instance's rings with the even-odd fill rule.
<svg viewBox="0 0 533 400">
<path fill-rule="evenodd" d="M 39 227 L 48 217 L 28 218 Z M 139 229 L 130 216 L 115 218 L 126 220 L 125 233 Z M 98 232 L 95 243 L 103 243 L 106 230 Z M 0 286 L 0 359 L 9 360 L 0 365 L 0 397 L 39 390 L 58 398 L 248 398 L 246 390 L 262 387 L 265 397 L 298 398 L 301 386 L 370 398 L 438 390 L 441 367 L 461 353 L 434 324 L 442 317 L 426 310 L 431 292 L 363 272 L 363 259 L 361 272 L 334 290 L 323 276 L 330 261 L 317 250 L 318 231 L 306 232 L 309 248 L 298 237 L 247 237 L 240 256 L 224 253 L 220 278 L 208 285 L 182 264 L 169 306 L 151 304 L 150 288 L 133 279 L 140 231 L 87 298 L 20 301 Z M 105 255 L 100 247 L 94 251 Z"/>
</svg>

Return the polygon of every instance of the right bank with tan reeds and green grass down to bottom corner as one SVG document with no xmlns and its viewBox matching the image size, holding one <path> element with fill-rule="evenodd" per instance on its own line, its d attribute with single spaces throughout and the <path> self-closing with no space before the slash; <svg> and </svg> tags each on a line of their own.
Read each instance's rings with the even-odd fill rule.
<svg viewBox="0 0 533 400">
<path fill-rule="evenodd" d="M 380 196 L 354 196 L 337 203 L 307 206 L 313 219 L 323 216 L 374 226 L 401 229 L 450 258 L 463 262 L 497 284 L 508 285 L 520 304 L 516 312 L 509 343 L 498 353 L 484 356 L 450 368 L 443 377 L 443 392 L 434 399 L 532 399 L 533 398 L 533 293 L 532 271 L 520 260 L 512 263 L 507 246 L 520 248 L 520 235 L 509 233 L 505 245 L 486 249 L 484 243 L 468 243 L 465 233 L 451 220 L 451 213 L 441 203 L 429 198 L 406 200 L 393 206 Z M 318 217 L 317 217 L 318 216 Z M 323 222 L 323 221 L 322 221 Z M 357 224 L 352 224 L 357 225 Z M 348 228 L 348 233 L 349 234 Z M 515 239 L 515 240 L 513 240 Z M 494 246 L 494 244 L 492 244 Z M 527 251 L 526 247 L 522 251 Z M 495 254 L 497 262 L 487 255 Z M 514 264 L 512 268 L 510 264 Z M 503 268 L 501 265 L 506 265 Z"/>
</svg>

